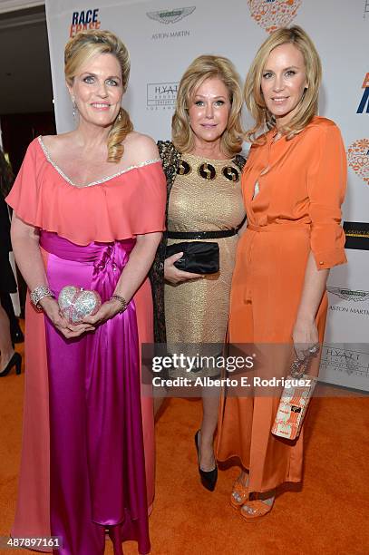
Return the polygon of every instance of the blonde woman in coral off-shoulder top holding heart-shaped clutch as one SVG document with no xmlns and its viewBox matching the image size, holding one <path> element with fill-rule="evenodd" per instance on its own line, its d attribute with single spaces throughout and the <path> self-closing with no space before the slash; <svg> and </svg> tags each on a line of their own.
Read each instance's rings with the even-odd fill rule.
<svg viewBox="0 0 369 555">
<path fill-rule="evenodd" d="M 121 108 L 129 73 L 114 34 L 71 39 L 65 77 L 77 129 L 35 139 L 7 197 L 33 303 L 13 535 L 58 536 L 53 552 L 63 555 L 102 555 L 106 531 L 114 553 L 123 540 L 151 550 L 153 410 L 141 400 L 139 344 L 152 341 L 146 276 L 166 184 L 156 144 Z M 56 301 L 64 286 L 97 291 L 102 307 L 71 323 Z"/>
</svg>

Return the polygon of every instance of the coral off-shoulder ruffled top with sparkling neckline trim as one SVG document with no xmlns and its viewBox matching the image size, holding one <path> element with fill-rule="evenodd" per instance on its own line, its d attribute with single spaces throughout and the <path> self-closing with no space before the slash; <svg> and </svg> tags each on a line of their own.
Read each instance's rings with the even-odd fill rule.
<svg viewBox="0 0 369 555">
<path fill-rule="evenodd" d="M 161 161 L 151 160 L 77 187 L 39 137 L 6 202 L 25 223 L 77 245 L 107 243 L 165 229 L 166 180 Z"/>
</svg>

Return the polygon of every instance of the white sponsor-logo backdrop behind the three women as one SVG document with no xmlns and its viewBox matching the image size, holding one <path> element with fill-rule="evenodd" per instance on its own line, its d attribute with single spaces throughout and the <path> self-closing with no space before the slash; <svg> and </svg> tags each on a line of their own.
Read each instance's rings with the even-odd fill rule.
<svg viewBox="0 0 369 555">
<path fill-rule="evenodd" d="M 131 53 L 123 104 L 135 129 L 156 140 L 170 138 L 177 86 L 193 58 L 228 56 L 244 77 L 273 29 L 292 23 L 306 29 L 324 67 L 320 114 L 341 128 L 349 164 L 348 264 L 329 277 L 320 375 L 369 391 L 369 0 L 46 0 L 46 15 L 58 132 L 74 126 L 64 45 L 82 29 L 109 29 Z"/>
</svg>

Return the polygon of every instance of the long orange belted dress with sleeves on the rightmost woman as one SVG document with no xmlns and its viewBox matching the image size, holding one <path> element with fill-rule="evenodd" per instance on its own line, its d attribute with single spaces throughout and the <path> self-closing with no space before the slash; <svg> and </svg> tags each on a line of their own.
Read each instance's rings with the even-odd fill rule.
<svg viewBox="0 0 369 555">
<path fill-rule="evenodd" d="M 316 268 L 346 262 L 340 225 L 346 160 L 334 122 L 314 117 L 292 140 L 253 145 L 242 177 L 248 228 L 238 241 L 233 274 L 229 341 L 233 344 L 292 344 L 292 331 L 310 251 Z M 323 341 L 326 293 L 316 314 Z M 292 346 L 291 346 L 292 348 Z M 276 365 L 284 365 L 283 356 Z M 287 375 L 289 367 L 276 367 Z M 279 398 L 224 396 L 220 404 L 219 461 L 238 457 L 249 471 L 249 490 L 267 492 L 282 482 L 299 482 L 303 433 L 290 443 L 270 433 Z"/>
</svg>

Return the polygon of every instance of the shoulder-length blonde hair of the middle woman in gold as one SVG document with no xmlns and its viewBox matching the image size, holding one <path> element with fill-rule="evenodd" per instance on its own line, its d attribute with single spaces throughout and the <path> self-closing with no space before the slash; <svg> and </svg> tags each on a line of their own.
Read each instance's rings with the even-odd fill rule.
<svg viewBox="0 0 369 555">
<path fill-rule="evenodd" d="M 228 88 L 231 103 L 227 128 L 221 136 L 220 148 L 230 157 L 242 150 L 243 129 L 241 109 L 243 104 L 239 75 L 228 58 L 201 55 L 187 68 L 180 80 L 171 131 L 172 141 L 180 152 L 189 152 L 194 147 L 193 131 L 189 123 L 189 102 L 199 86 L 207 79 L 218 77 Z"/>
</svg>

